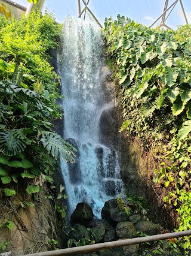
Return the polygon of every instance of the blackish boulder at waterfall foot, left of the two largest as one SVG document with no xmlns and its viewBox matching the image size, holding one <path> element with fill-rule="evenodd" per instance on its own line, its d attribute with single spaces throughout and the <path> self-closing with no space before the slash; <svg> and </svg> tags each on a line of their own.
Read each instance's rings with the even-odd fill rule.
<svg viewBox="0 0 191 256">
<path fill-rule="evenodd" d="M 81 224 L 87 226 L 93 219 L 93 210 L 87 203 L 79 203 L 71 215 L 71 224 Z"/>
</svg>

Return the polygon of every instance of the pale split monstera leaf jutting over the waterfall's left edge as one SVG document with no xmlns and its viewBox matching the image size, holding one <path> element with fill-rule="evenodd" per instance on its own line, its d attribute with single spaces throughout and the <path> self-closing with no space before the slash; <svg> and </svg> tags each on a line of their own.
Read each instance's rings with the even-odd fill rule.
<svg viewBox="0 0 191 256">
<path fill-rule="evenodd" d="M 76 149 L 72 147 L 70 143 L 63 140 L 60 135 L 55 132 L 44 132 L 41 138 L 42 144 L 45 149 L 48 150 L 48 153 L 51 154 L 57 159 L 60 153 L 61 158 L 67 162 L 75 162 L 73 156 L 75 156 Z"/>
</svg>

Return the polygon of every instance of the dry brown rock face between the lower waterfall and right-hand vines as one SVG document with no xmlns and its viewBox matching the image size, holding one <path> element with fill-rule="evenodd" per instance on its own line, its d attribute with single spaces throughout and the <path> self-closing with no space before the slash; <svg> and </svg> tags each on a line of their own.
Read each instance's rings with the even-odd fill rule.
<svg viewBox="0 0 191 256">
<path fill-rule="evenodd" d="M 155 168 L 159 168 L 159 163 L 153 157 L 152 149 L 146 151 L 138 138 L 126 138 L 124 135 L 121 140 L 121 175 L 125 192 L 146 198 L 149 218 L 173 230 L 177 225 L 177 214 L 164 207 L 162 198 L 167 194 L 167 189 L 153 183 Z"/>
</svg>

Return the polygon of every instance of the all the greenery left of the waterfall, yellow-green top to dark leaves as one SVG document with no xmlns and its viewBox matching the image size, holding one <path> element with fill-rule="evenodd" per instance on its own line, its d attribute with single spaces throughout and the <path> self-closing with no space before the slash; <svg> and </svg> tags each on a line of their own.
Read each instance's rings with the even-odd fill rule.
<svg viewBox="0 0 191 256">
<path fill-rule="evenodd" d="M 32 197 L 21 207 L 34 206 L 42 184 L 53 183 L 56 159 L 74 161 L 75 149 L 52 124 L 63 111 L 48 50 L 57 47 L 61 26 L 51 14 L 30 13 L 20 20 L 0 16 L 0 28 L 0 195 L 24 189 Z M 5 226 L 12 229 L 13 222 L 2 219 Z"/>
</svg>

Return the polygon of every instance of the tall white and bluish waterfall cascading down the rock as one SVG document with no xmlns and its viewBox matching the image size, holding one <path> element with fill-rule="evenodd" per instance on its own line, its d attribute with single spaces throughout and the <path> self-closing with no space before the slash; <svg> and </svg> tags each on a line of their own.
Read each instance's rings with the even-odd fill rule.
<svg viewBox="0 0 191 256">
<path fill-rule="evenodd" d="M 122 191 L 118 156 L 100 144 L 104 106 L 103 41 L 97 25 L 66 17 L 59 56 L 64 99 L 63 137 L 77 149 L 75 164 L 62 163 L 70 212 L 85 201 L 100 218 L 104 202 Z M 106 106 L 107 107 L 107 106 Z M 109 129 L 109 128 L 108 128 Z"/>
</svg>

